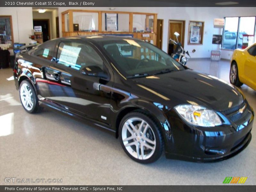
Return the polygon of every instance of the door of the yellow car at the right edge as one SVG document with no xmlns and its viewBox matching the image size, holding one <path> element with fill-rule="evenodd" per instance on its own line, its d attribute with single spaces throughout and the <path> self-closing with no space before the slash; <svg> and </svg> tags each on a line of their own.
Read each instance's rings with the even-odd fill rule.
<svg viewBox="0 0 256 192">
<path fill-rule="evenodd" d="M 246 52 L 244 62 L 244 75 L 246 84 L 256 89 L 256 45 L 250 47 Z"/>
</svg>

